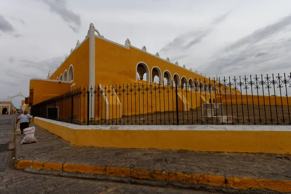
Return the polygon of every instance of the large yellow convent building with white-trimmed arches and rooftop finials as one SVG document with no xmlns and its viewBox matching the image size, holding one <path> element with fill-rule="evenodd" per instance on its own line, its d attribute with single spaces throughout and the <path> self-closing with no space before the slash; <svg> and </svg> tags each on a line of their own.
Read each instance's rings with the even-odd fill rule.
<svg viewBox="0 0 291 194">
<path fill-rule="evenodd" d="M 156 82 L 160 84 L 154 82 L 155 76 L 159 78 Z M 173 90 L 176 85 L 179 87 L 177 96 L 169 95 L 166 92 L 169 91 L 168 88 Z M 64 113 L 62 109 L 67 105 L 60 103 L 63 98 L 56 97 L 72 91 L 77 91 L 75 94 L 79 97 L 81 93 L 78 91 L 82 91 L 84 87 L 88 91 L 90 88 L 101 91 L 101 95 L 88 95 L 88 99 L 84 96 L 79 101 L 72 98 L 70 106 L 77 108 L 71 108 L 70 114 Z M 148 92 L 149 88 L 153 88 L 154 92 Z M 110 95 L 106 95 L 106 91 Z M 129 92 L 137 96 L 133 97 Z M 189 112 L 205 103 L 262 104 L 264 97 L 253 98 L 241 95 L 233 87 L 221 87 L 217 79 L 210 80 L 193 72 L 191 68 L 187 69 L 185 65 L 172 63 L 169 58 L 162 59 L 159 53 L 148 53 L 145 46 L 138 49 L 131 45 L 129 39 L 124 45 L 110 41 L 91 23 L 86 38 L 81 43 L 77 41 L 75 49 L 71 49 L 65 61 L 55 71 L 49 72 L 48 79 L 30 80 L 29 106 L 49 99 L 54 99 L 51 105 L 39 108 L 41 110 L 38 112 L 48 115 L 49 108 L 54 107 L 57 108 L 54 118 L 62 117 L 73 121 L 77 117 L 77 120 L 83 121 L 171 112 L 177 108 L 179 111 Z M 286 97 L 281 100 L 284 105 L 287 103 Z M 274 103 L 274 99 L 265 101 Z M 279 99 L 275 103 L 278 102 Z M 176 106 L 177 104 L 180 106 Z"/>
</svg>

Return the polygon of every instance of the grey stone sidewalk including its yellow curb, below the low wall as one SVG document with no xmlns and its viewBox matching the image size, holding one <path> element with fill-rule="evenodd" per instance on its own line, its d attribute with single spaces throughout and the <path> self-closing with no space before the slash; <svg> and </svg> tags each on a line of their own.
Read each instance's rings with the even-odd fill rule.
<svg viewBox="0 0 291 194">
<path fill-rule="evenodd" d="M 291 192 L 290 155 L 76 147 L 32 126 L 38 143 L 20 145 L 24 135 L 16 136 L 17 169 L 210 191 Z"/>
</svg>

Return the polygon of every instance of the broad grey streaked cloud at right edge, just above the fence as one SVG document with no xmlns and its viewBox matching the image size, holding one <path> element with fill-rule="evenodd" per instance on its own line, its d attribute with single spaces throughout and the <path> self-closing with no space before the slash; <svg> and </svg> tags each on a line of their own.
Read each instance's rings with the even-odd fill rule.
<svg viewBox="0 0 291 194">
<path fill-rule="evenodd" d="M 291 49 L 291 35 L 286 33 L 290 29 L 291 15 L 226 46 L 201 68 L 213 74 L 261 73 L 271 70 L 281 72 L 290 66 L 291 56 L 288 51 Z"/>
</svg>

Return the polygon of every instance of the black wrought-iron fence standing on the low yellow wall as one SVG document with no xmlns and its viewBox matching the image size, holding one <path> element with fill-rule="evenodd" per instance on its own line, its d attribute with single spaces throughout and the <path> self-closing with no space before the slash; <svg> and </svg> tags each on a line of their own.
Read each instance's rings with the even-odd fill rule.
<svg viewBox="0 0 291 194">
<path fill-rule="evenodd" d="M 78 125 L 291 125 L 291 74 L 176 82 L 78 88 L 32 115 Z"/>
</svg>

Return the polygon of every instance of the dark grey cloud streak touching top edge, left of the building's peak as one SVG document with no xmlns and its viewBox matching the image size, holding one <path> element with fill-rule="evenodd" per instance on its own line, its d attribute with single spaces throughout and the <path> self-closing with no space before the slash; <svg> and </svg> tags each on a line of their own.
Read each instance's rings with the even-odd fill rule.
<svg viewBox="0 0 291 194">
<path fill-rule="evenodd" d="M 81 17 L 73 11 L 68 10 L 65 0 L 41 0 L 47 5 L 51 12 L 61 16 L 68 23 L 69 28 L 78 33 L 81 27 Z"/>
</svg>

